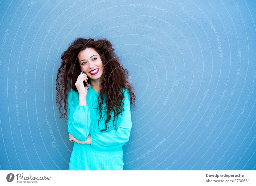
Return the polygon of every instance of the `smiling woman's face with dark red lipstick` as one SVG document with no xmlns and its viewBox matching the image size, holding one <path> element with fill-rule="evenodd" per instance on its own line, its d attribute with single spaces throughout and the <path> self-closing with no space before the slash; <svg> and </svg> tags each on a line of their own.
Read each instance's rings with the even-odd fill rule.
<svg viewBox="0 0 256 186">
<path fill-rule="evenodd" d="M 102 61 L 93 48 L 86 48 L 78 54 L 81 69 L 89 78 L 96 80 L 102 75 Z"/>
</svg>

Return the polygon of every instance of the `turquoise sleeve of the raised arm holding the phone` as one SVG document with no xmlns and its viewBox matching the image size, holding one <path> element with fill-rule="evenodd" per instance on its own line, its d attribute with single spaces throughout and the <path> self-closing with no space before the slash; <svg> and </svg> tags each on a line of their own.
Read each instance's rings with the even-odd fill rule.
<svg viewBox="0 0 256 186">
<path fill-rule="evenodd" d="M 68 132 L 80 141 L 85 141 L 90 131 L 90 109 L 88 105 L 79 105 L 79 96 L 70 89 L 68 92 Z"/>
</svg>

